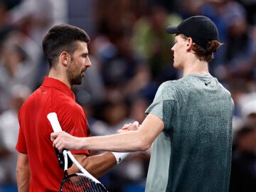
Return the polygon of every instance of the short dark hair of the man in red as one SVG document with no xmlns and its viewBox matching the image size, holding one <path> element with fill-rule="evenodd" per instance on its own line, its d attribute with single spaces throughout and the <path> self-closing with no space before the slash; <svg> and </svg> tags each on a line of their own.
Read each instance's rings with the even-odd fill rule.
<svg viewBox="0 0 256 192">
<path fill-rule="evenodd" d="M 61 52 L 67 51 L 72 55 L 77 48 L 76 41 L 90 42 L 88 34 L 76 26 L 61 24 L 50 28 L 43 38 L 43 53 L 49 62 L 50 68 L 58 61 Z"/>
</svg>

